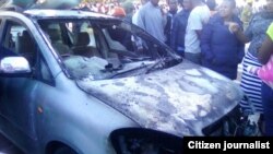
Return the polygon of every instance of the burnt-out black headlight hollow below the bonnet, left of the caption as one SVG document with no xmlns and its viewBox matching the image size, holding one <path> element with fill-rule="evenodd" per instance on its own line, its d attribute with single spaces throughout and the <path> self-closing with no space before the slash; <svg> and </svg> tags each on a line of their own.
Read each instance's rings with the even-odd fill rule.
<svg viewBox="0 0 273 154">
<path fill-rule="evenodd" d="M 182 138 L 140 128 L 115 130 L 110 140 L 117 154 L 181 154 Z"/>
</svg>

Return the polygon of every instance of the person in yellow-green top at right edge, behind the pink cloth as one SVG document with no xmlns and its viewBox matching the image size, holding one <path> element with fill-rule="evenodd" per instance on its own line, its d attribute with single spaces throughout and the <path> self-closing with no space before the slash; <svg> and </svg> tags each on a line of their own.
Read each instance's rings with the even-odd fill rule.
<svg viewBox="0 0 273 154">
<path fill-rule="evenodd" d="M 262 64 L 269 62 L 273 56 L 273 23 L 266 32 L 266 38 L 260 48 L 258 58 Z M 262 83 L 262 105 L 264 108 L 265 135 L 273 137 L 273 88 Z"/>
</svg>

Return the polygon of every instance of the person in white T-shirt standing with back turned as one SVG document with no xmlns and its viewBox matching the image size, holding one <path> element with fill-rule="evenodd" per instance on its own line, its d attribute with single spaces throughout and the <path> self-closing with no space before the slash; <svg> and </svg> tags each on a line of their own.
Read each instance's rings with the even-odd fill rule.
<svg viewBox="0 0 273 154">
<path fill-rule="evenodd" d="M 211 12 L 202 0 L 191 0 L 193 9 L 188 19 L 185 37 L 185 58 L 201 64 L 200 36 Z"/>
</svg>

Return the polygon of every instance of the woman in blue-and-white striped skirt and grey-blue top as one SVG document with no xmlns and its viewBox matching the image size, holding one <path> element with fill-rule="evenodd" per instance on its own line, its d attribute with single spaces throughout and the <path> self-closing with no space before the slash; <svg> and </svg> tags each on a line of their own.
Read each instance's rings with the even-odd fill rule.
<svg viewBox="0 0 273 154">
<path fill-rule="evenodd" d="M 261 98 L 262 81 L 252 73 L 247 71 L 249 67 L 261 67 L 258 60 L 258 49 L 261 47 L 266 37 L 266 28 L 273 22 L 273 0 L 266 1 L 266 9 L 257 13 L 251 19 L 245 34 L 239 28 L 234 32 L 244 43 L 249 43 L 248 51 L 242 60 L 242 74 L 240 86 L 246 97 L 240 102 L 240 106 L 245 111 L 263 112 Z M 238 26 L 237 26 L 238 27 Z"/>
</svg>

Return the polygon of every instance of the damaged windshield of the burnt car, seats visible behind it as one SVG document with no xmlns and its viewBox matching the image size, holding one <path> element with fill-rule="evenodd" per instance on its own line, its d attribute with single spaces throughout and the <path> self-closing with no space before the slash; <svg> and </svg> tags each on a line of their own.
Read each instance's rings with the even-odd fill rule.
<svg viewBox="0 0 273 154">
<path fill-rule="evenodd" d="M 171 52 L 141 28 L 115 19 L 39 20 L 38 24 L 73 79 L 143 73 Z"/>
</svg>

